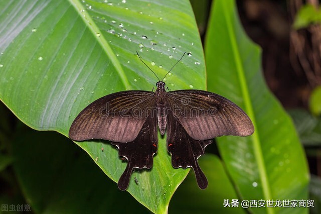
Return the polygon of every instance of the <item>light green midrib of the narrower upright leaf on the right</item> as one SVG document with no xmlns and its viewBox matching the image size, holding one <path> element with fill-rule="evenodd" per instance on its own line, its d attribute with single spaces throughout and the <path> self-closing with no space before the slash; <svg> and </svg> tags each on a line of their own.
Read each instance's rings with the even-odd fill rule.
<svg viewBox="0 0 321 214">
<path fill-rule="evenodd" d="M 229 37 L 231 39 L 233 57 L 234 57 L 235 63 L 236 63 L 236 70 L 237 70 L 238 77 L 239 77 L 238 79 L 239 79 L 240 85 L 241 85 L 241 92 L 242 92 L 243 98 L 244 98 L 245 109 L 246 109 L 246 113 L 248 114 L 248 116 L 251 118 L 251 120 L 253 122 L 254 130 L 257 130 L 255 115 L 254 115 L 254 111 L 253 111 L 253 108 L 251 105 L 251 103 L 252 103 L 251 98 L 249 95 L 249 89 L 247 87 L 246 78 L 244 75 L 245 71 L 243 69 L 240 52 L 238 50 L 237 41 L 235 38 L 235 32 L 234 32 L 233 26 L 231 25 L 231 23 L 232 23 L 231 17 L 228 16 L 229 13 L 228 13 L 227 7 L 228 7 L 227 4 L 223 4 L 224 14 L 226 15 L 226 20 L 227 20 L 226 26 L 227 26 Z M 233 7 L 233 9 L 234 9 L 234 7 Z M 237 12 L 235 12 L 235 14 L 236 13 Z M 263 155 L 262 155 L 262 148 L 260 145 L 260 139 L 259 139 L 258 132 L 254 132 L 253 135 L 251 136 L 251 138 L 252 138 L 253 147 L 254 147 L 255 159 L 256 159 L 256 162 L 258 165 L 259 176 L 260 176 L 260 179 L 262 182 L 263 195 L 264 195 L 265 200 L 270 200 L 271 199 L 270 186 L 269 186 L 269 182 L 267 180 L 266 167 L 265 167 L 265 163 L 264 163 L 264 159 L 263 159 Z M 270 208 L 267 209 L 267 212 L 274 213 L 273 209 L 270 209 Z"/>
</svg>

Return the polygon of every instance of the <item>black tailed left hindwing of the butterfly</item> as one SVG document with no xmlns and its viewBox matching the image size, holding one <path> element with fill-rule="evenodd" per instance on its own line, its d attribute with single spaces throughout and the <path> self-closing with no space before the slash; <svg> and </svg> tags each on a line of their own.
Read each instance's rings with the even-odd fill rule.
<svg viewBox="0 0 321 214">
<path fill-rule="evenodd" d="M 152 167 L 152 156 L 157 152 L 157 117 L 152 112 L 144 122 L 135 140 L 128 143 L 111 142 L 119 149 L 119 156 L 125 157 L 128 161 L 127 167 L 118 181 L 118 188 L 125 190 L 128 187 L 129 179 L 133 168 Z"/>
</svg>

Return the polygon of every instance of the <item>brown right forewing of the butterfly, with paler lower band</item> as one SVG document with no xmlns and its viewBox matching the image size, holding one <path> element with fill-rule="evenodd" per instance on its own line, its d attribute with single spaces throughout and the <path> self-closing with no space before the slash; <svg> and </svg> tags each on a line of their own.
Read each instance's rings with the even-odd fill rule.
<svg viewBox="0 0 321 214">
<path fill-rule="evenodd" d="M 254 132 L 250 118 L 223 96 L 202 90 L 177 90 L 168 94 L 174 116 L 196 140 L 222 135 L 248 136 Z"/>
</svg>

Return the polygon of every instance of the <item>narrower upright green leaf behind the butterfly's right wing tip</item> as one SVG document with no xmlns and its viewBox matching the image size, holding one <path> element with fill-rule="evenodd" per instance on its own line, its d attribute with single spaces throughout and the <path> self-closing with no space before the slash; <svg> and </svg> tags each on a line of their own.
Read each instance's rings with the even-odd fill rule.
<svg viewBox="0 0 321 214">
<path fill-rule="evenodd" d="M 293 123 L 267 89 L 260 49 L 245 35 L 235 2 L 217 0 L 206 39 L 208 89 L 237 103 L 252 119 L 249 137 L 221 137 L 218 146 L 242 199 L 307 199 L 309 174 Z M 280 71 L 281 72 L 281 71 Z M 250 208 L 253 213 L 307 213 L 307 208 Z"/>
</svg>

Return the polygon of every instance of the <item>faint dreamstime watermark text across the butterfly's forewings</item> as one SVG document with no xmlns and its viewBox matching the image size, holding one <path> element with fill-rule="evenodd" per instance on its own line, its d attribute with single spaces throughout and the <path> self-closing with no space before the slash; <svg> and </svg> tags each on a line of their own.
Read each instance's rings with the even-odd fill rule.
<svg viewBox="0 0 321 214">
<path fill-rule="evenodd" d="M 147 118 L 157 117 L 158 112 L 173 113 L 177 118 L 197 118 L 197 117 L 213 117 L 217 114 L 217 108 L 210 106 L 209 108 L 200 108 L 190 105 L 190 98 L 182 98 L 180 104 L 172 106 L 133 106 L 130 108 L 115 106 L 110 102 L 106 102 L 105 106 L 99 109 L 101 118 Z"/>
</svg>

